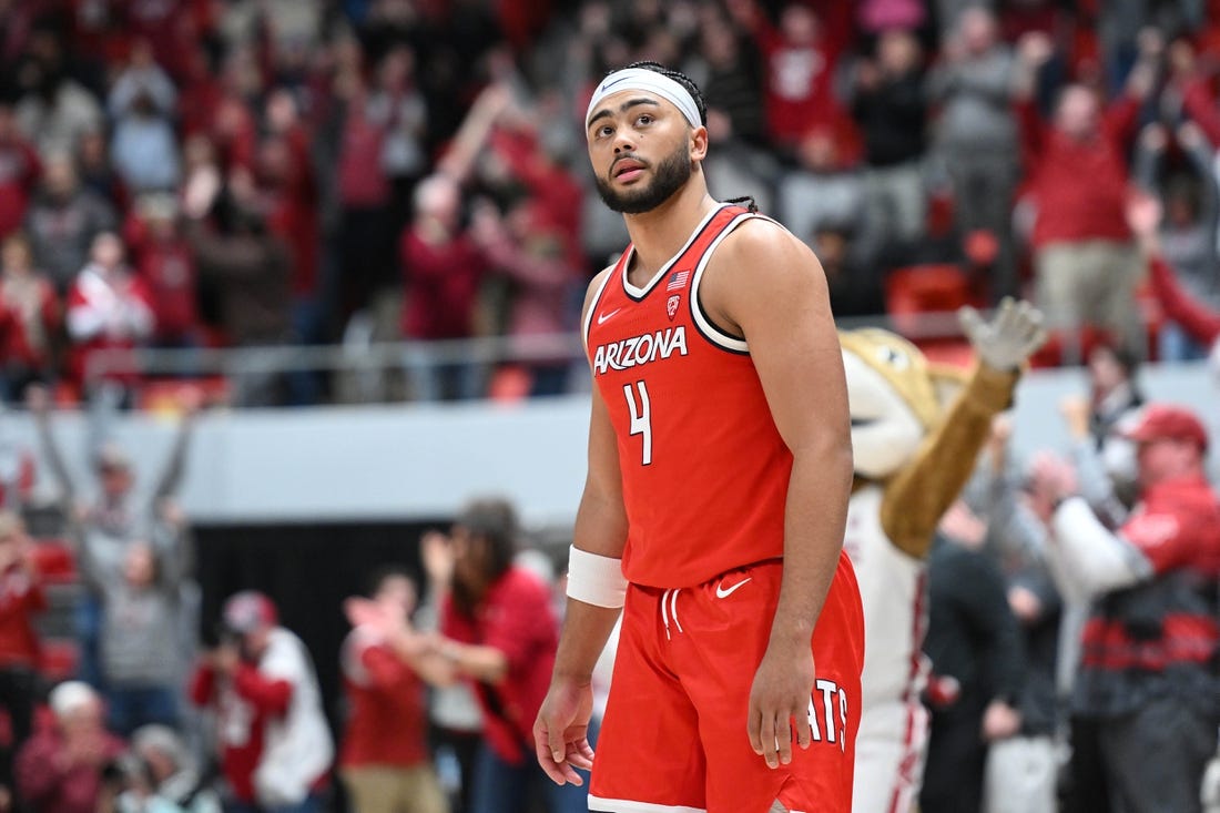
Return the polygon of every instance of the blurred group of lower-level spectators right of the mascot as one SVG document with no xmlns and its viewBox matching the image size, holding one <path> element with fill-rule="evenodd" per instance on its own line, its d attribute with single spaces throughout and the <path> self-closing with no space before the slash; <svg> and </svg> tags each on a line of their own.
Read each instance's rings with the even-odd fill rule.
<svg viewBox="0 0 1220 813">
<path fill-rule="evenodd" d="M 1119 347 L 1087 376 L 1068 446 L 1000 415 L 941 522 L 922 809 L 1220 809 L 1215 438 Z"/>
</svg>

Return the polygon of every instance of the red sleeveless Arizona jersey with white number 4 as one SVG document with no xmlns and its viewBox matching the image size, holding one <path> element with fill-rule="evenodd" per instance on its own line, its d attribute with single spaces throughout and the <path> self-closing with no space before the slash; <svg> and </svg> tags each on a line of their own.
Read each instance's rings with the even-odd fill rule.
<svg viewBox="0 0 1220 813">
<path fill-rule="evenodd" d="M 745 342 L 699 304 L 716 247 L 755 216 L 715 209 L 643 288 L 627 280 L 628 245 L 586 316 L 593 378 L 617 436 L 622 569 L 634 584 L 687 587 L 783 554 L 792 453 Z"/>
</svg>

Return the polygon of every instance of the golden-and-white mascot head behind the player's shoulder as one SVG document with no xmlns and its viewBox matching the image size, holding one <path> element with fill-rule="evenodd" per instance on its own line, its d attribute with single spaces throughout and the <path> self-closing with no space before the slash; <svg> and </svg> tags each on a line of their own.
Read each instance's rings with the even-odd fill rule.
<svg viewBox="0 0 1220 813">
<path fill-rule="evenodd" d="M 965 381 L 878 328 L 841 331 L 855 474 L 884 480 L 906 465 Z"/>
</svg>

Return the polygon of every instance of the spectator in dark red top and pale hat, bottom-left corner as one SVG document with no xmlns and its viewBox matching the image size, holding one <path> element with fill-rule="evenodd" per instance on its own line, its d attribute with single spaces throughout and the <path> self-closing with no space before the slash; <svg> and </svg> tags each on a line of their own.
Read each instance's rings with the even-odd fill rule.
<svg viewBox="0 0 1220 813">
<path fill-rule="evenodd" d="M 96 813 L 102 773 L 123 753 L 106 731 L 101 697 L 77 680 L 48 698 L 54 723 L 17 754 L 17 793 L 33 813 Z"/>
</svg>

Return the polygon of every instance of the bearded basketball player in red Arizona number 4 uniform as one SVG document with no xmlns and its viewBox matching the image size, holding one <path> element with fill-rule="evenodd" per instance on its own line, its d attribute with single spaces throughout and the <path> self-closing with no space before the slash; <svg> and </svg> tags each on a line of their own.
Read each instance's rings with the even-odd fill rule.
<svg viewBox="0 0 1220 813">
<path fill-rule="evenodd" d="M 592 811 L 847 811 L 864 623 L 842 355 L 813 253 L 708 193 L 705 115 L 648 62 L 589 103 L 632 243 L 584 305 L 588 480 L 538 761 L 556 782 L 592 767 Z M 594 763 L 589 675 L 620 608 Z"/>
</svg>

